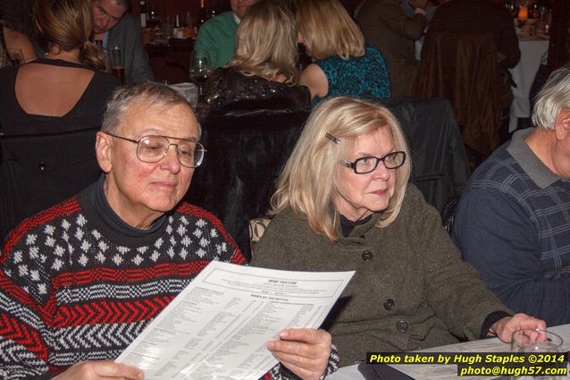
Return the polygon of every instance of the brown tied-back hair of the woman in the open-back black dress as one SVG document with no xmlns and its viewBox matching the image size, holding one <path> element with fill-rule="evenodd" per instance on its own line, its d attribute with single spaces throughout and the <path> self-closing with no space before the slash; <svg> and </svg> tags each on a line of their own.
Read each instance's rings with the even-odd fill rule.
<svg viewBox="0 0 570 380">
<path fill-rule="evenodd" d="M 89 41 L 93 19 L 87 0 L 38 0 L 36 21 L 50 45 L 66 52 L 79 47 L 80 62 L 106 70 L 105 55 Z"/>
</svg>

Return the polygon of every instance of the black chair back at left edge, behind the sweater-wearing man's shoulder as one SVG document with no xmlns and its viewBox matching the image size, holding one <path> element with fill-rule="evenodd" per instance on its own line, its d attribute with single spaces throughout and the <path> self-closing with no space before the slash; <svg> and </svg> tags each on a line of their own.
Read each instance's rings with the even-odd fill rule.
<svg viewBox="0 0 570 380">
<path fill-rule="evenodd" d="M 0 238 L 20 222 L 80 192 L 101 169 L 95 129 L 0 137 Z"/>
</svg>

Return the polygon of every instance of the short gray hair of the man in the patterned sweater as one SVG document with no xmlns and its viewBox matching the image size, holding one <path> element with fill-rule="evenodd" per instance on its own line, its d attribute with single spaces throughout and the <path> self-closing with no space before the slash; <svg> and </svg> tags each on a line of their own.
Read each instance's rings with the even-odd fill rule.
<svg viewBox="0 0 570 380">
<path fill-rule="evenodd" d="M 186 98 L 178 91 L 171 89 L 165 84 L 148 81 L 126 87 L 120 87 L 113 91 L 113 95 L 107 101 L 101 131 L 115 132 L 121 125 L 129 106 L 133 102 L 144 102 L 148 106 L 176 106 L 186 105 L 194 113 Z M 202 135 L 198 123 L 198 138 Z"/>
</svg>

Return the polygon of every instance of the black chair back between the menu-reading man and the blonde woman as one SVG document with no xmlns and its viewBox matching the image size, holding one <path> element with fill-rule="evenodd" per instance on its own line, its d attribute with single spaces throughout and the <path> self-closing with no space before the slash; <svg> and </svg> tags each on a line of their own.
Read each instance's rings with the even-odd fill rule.
<svg viewBox="0 0 570 380">
<path fill-rule="evenodd" d="M 185 199 L 218 216 L 249 254 L 249 220 L 265 215 L 282 166 L 308 112 L 212 115 L 203 123 L 205 161 Z"/>
</svg>

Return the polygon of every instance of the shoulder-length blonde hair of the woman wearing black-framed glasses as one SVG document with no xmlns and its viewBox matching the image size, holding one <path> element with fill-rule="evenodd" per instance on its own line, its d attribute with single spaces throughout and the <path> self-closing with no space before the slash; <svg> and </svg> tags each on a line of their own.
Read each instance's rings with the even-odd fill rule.
<svg viewBox="0 0 570 380">
<path fill-rule="evenodd" d="M 398 171 L 394 195 L 376 224 L 378 228 L 390 225 L 398 216 L 411 171 L 406 138 L 396 117 L 385 107 L 353 97 L 332 97 L 314 108 L 306 126 L 283 168 L 277 190 L 272 196 L 275 215 L 290 207 L 306 217 L 315 233 L 338 241 L 336 226 L 338 212 L 332 197 L 336 189 L 337 173 L 348 170 L 339 165 L 355 147 L 356 138 L 379 128 L 389 128 L 396 150 L 406 153 L 404 165 Z M 339 143 L 325 137 L 329 133 Z"/>
</svg>

